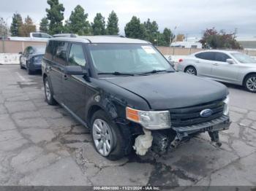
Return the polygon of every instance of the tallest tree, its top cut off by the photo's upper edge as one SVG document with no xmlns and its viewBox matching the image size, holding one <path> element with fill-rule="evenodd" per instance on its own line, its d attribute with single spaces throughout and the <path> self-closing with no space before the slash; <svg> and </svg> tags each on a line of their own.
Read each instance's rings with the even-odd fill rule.
<svg viewBox="0 0 256 191">
<path fill-rule="evenodd" d="M 59 4 L 59 0 L 48 0 L 50 9 L 46 9 L 47 18 L 50 20 L 49 33 L 59 34 L 63 31 L 62 20 L 64 20 L 64 7 Z"/>
</svg>

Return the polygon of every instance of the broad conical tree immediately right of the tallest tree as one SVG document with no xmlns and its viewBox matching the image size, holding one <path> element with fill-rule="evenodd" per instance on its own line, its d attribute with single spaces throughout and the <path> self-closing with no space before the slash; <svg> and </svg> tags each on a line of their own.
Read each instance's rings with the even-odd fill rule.
<svg viewBox="0 0 256 191">
<path fill-rule="evenodd" d="M 84 12 L 83 7 L 78 5 L 74 11 L 71 12 L 67 26 L 70 33 L 78 35 L 91 34 L 91 26 L 87 20 L 88 14 Z"/>
</svg>

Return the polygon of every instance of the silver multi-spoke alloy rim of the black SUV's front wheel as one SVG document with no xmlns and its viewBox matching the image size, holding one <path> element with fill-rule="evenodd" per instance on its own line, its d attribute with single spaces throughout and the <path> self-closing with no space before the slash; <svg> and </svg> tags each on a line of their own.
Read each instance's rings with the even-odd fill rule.
<svg viewBox="0 0 256 191">
<path fill-rule="evenodd" d="M 103 156 L 108 156 L 113 147 L 113 137 L 108 123 L 101 119 L 94 120 L 92 133 L 97 151 Z"/>
</svg>

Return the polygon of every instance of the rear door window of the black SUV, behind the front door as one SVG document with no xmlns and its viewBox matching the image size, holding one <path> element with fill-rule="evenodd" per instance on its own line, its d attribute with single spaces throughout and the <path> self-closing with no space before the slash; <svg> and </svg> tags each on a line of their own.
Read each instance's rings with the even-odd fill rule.
<svg viewBox="0 0 256 191">
<path fill-rule="evenodd" d="M 54 50 L 54 61 L 66 65 L 67 42 L 56 42 Z"/>
</svg>

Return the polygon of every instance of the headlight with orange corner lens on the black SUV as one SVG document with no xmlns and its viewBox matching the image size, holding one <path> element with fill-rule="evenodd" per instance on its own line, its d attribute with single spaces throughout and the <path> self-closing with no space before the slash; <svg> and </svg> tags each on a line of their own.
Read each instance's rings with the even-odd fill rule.
<svg viewBox="0 0 256 191">
<path fill-rule="evenodd" d="M 170 128 L 170 112 L 147 112 L 127 107 L 127 119 L 149 130 Z"/>
</svg>

